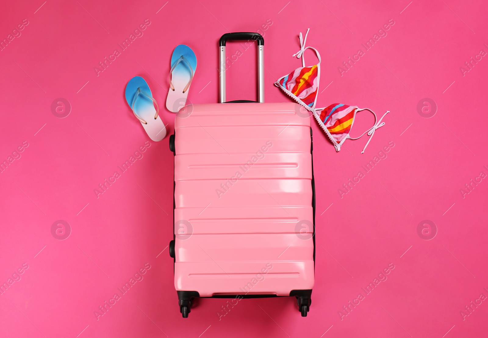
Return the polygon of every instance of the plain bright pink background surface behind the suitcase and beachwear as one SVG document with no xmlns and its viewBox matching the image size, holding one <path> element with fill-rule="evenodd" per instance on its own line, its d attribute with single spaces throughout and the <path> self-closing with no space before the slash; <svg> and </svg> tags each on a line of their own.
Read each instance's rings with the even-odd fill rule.
<svg viewBox="0 0 488 338">
<path fill-rule="evenodd" d="M 488 174 L 488 60 L 460 69 L 488 51 L 486 2 L 287 2 L 3 1 L 0 38 L 20 36 L 0 51 L 0 160 L 28 147 L 0 173 L 0 282 L 18 279 L 24 263 L 28 269 L 0 296 L 1 337 L 488 336 L 488 301 L 476 300 L 488 296 L 488 182 L 480 177 L 461 191 Z M 12 33 L 24 19 L 28 25 Z M 94 67 L 146 19 L 143 35 L 97 76 Z M 362 43 L 391 19 L 387 35 L 365 51 Z M 261 29 L 265 101 L 286 102 L 273 83 L 301 65 L 291 55 L 306 28 L 307 45 L 322 56 L 318 106 L 391 111 L 364 154 L 366 137 L 336 153 L 312 122 L 317 245 L 308 317 L 283 297 L 242 300 L 221 320 L 225 300 L 200 299 L 183 319 L 166 248 L 168 137 L 151 141 L 98 198 L 94 192 L 149 140 L 125 102 L 125 84 L 147 80 L 173 133 L 175 115 L 163 108 L 173 48 L 187 44 L 198 58 L 189 100 L 217 102 L 219 37 Z M 229 43 L 227 55 L 238 48 Z M 358 49 L 365 55 L 341 75 Z M 229 68 L 228 100 L 255 97 L 254 47 L 243 54 Z M 51 111 L 57 98 L 71 105 L 64 118 Z M 437 105 L 430 118 L 417 109 L 424 98 Z M 358 115 L 352 136 L 372 123 Z M 343 184 L 389 142 L 387 157 L 341 197 Z M 64 240 L 51 233 L 60 219 L 71 227 Z M 430 240 L 417 233 L 423 220 L 437 227 Z M 94 311 L 146 263 L 143 279 L 97 320 Z M 387 279 L 344 312 L 390 263 Z M 471 301 L 481 304 L 469 313 Z"/>
</svg>

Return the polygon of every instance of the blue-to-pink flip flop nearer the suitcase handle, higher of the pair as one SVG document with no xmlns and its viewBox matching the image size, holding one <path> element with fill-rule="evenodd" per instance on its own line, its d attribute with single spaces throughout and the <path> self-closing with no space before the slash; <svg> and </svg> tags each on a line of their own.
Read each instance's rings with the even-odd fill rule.
<svg viewBox="0 0 488 338">
<path fill-rule="evenodd" d="M 166 108 L 177 113 L 185 106 L 188 89 L 197 69 L 197 57 L 190 47 L 184 44 L 176 46 L 171 56 L 169 71 L 169 91 Z"/>
</svg>

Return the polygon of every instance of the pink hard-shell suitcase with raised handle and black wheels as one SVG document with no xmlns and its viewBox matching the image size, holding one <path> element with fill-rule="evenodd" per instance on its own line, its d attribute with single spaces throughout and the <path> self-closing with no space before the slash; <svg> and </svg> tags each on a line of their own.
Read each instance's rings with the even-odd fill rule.
<svg viewBox="0 0 488 338">
<path fill-rule="evenodd" d="M 188 105 L 176 116 L 169 252 L 180 312 L 188 317 L 194 297 L 236 298 L 229 307 L 242 298 L 296 296 L 305 317 L 315 264 L 310 119 L 298 104 L 264 103 L 257 33 L 220 39 L 221 102 L 228 40 L 258 42 L 259 102 Z"/>
</svg>

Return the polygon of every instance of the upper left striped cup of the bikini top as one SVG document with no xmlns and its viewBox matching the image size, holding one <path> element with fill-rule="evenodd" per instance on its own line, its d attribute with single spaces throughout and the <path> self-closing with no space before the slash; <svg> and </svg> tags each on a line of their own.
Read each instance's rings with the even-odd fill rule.
<svg viewBox="0 0 488 338">
<path fill-rule="evenodd" d="M 319 87 L 318 66 L 300 67 L 278 81 L 287 91 L 299 98 L 305 105 L 313 107 Z"/>
</svg>

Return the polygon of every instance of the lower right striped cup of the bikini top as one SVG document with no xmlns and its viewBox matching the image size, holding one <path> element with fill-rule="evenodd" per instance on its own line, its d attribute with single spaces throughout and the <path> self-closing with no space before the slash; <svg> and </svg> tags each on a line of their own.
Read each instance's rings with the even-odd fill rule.
<svg viewBox="0 0 488 338">
<path fill-rule="evenodd" d="M 341 141 L 349 134 L 354 114 L 358 106 L 346 106 L 334 103 L 322 110 L 320 120 L 330 133 L 330 136 L 337 142 Z"/>
</svg>

